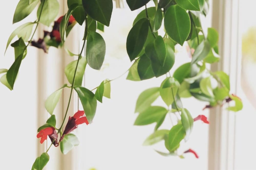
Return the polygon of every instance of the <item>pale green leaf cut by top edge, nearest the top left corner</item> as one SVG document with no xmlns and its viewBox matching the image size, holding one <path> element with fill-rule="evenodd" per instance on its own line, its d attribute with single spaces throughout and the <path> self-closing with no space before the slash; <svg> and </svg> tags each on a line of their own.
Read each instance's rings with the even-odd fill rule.
<svg viewBox="0 0 256 170">
<path fill-rule="evenodd" d="M 13 24 L 26 18 L 36 7 L 39 0 L 28 3 L 28 0 L 20 0 L 13 16 Z"/>
</svg>

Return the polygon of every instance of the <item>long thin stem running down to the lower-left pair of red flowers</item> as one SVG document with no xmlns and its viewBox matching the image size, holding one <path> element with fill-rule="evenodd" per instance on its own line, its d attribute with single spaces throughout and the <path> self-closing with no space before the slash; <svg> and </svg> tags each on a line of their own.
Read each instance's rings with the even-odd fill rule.
<svg viewBox="0 0 256 170">
<path fill-rule="evenodd" d="M 87 32 L 88 32 L 88 25 L 87 25 L 87 18 L 85 18 L 85 31 L 84 31 L 84 41 L 83 41 L 83 47 L 82 47 L 82 50 L 80 52 L 80 55 L 78 57 L 78 60 L 77 60 L 77 65 L 76 65 L 76 69 L 75 69 L 75 72 L 74 72 L 74 77 L 73 77 L 73 81 L 72 81 L 72 85 L 71 85 L 71 91 L 70 91 L 70 96 L 69 96 L 69 100 L 68 100 L 68 106 L 67 106 L 67 109 L 66 109 L 66 113 L 65 113 L 65 116 L 63 118 L 63 121 L 61 123 L 61 126 L 58 130 L 58 134 L 60 133 L 63 125 L 64 125 L 64 122 L 67 118 L 67 114 L 68 114 L 68 109 L 69 109 L 69 105 L 70 105 L 70 101 L 71 101 L 71 97 L 72 97 L 72 92 L 73 92 L 73 88 L 74 88 L 74 84 L 75 84 L 75 79 L 76 79 L 76 73 L 77 73 L 77 68 L 78 68 L 78 64 L 79 64 L 79 60 L 80 60 L 80 56 L 82 55 L 82 52 L 83 52 L 83 49 L 84 49 L 84 46 L 85 46 L 85 42 L 86 42 L 86 37 L 87 37 Z"/>
</svg>

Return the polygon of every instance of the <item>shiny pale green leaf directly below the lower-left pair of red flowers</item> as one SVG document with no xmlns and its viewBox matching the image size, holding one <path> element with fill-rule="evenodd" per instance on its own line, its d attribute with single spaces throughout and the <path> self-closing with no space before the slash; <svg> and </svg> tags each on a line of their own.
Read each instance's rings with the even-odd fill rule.
<svg viewBox="0 0 256 170">
<path fill-rule="evenodd" d="M 76 135 L 69 133 L 60 141 L 60 150 L 63 154 L 67 154 L 74 146 L 79 145 L 79 140 Z"/>
</svg>

